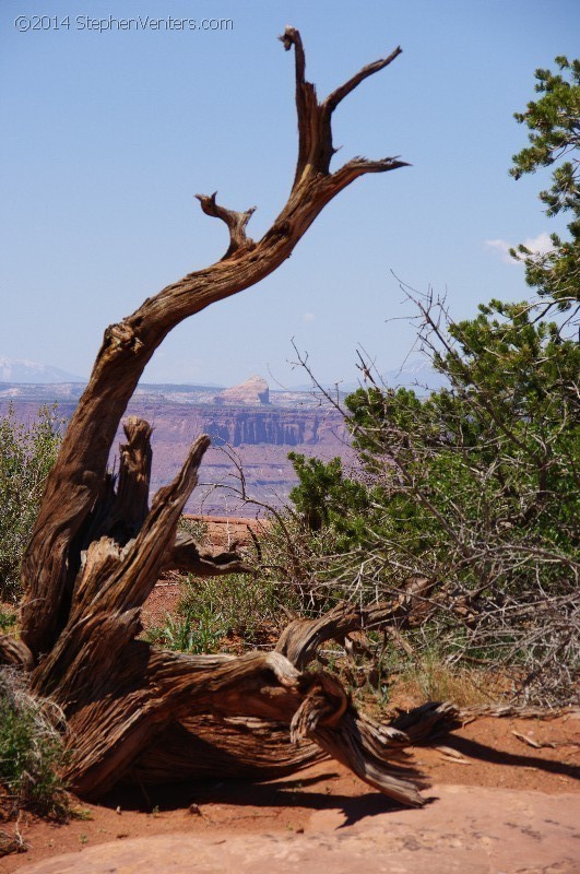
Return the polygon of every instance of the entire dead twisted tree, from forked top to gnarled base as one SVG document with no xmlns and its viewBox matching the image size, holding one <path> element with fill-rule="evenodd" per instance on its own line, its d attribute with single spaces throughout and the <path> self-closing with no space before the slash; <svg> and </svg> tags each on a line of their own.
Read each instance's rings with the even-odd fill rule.
<svg viewBox="0 0 580 874">
<path fill-rule="evenodd" d="M 128 401 L 166 334 L 275 270 L 354 179 L 404 166 L 393 157 L 355 157 L 330 170 L 334 109 L 400 49 L 319 103 L 305 79 L 298 32 L 287 27 L 281 39 L 286 49 L 294 47 L 298 114 L 298 162 L 288 201 L 253 241 L 246 235 L 253 210 L 233 212 L 218 205 L 215 194 L 198 196 L 203 212 L 227 225 L 227 251 L 105 331 L 24 558 L 22 643 L 11 658 L 31 669 L 36 693 L 51 695 L 62 707 L 71 751 L 68 777 L 83 796 L 98 796 L 121 779 L 272 776 L 330 754 L 401 802 L 422 803 L 413 773 L 388 764 L 409 743 L 409 729 L 405 735 L 359 716 L 333 677 L 296 666 L 311 658 L 312 635 L 300 646 L 293 633 L 280 652 L 241 658 L 162 652 L 138 639 L 141 607 L 164 568 L 208 575 L 240 567 L 236 555 L 200 555 L 191 539 L 176 536 L 209 438 L 198 438 L 151 509 L 146 423 L 126 425 L 117 486 L 106 471 Z M 345 623 L 339 625 L 344 630 Z M 317 627 L 313 637 L 323 639 L 324 633 Z M 9 650 L 4 647 L 10 656 Z"/>
</svg>

